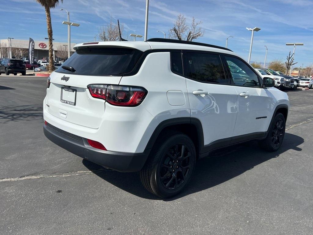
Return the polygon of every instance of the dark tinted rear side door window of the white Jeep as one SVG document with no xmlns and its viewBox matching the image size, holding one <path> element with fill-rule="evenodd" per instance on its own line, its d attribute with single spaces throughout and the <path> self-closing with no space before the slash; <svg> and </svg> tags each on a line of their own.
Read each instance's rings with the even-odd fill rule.
<svg viewBox="0 0 313 235">
<path fill-rule="evenodd" d="M 184 60 L 187 77 L 203 82 L 226 83 L 219 55 L 187 52 L 184 54 Z"/>
</svg>

